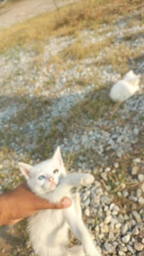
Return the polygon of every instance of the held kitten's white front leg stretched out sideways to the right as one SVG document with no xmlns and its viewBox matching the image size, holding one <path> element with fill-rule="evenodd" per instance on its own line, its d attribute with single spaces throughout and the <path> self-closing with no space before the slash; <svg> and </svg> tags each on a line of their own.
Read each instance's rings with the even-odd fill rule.
<svg viewBox="0 0 144 256">
<path fill-rule="evenodd" d="M 94 177 L 88 173 L 70 173 L 60 180 L 56 189 L 49 193 L 48 200 L 58 203 L 74 186 L 88 185 L 94 181 Z"/>
</svg>

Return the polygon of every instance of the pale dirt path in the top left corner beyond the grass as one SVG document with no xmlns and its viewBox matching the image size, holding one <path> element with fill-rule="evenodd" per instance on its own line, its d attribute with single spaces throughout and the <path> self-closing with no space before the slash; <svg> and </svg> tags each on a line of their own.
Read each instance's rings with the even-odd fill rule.
<svg viewBox="0 0 144 256">
<path fill-rule="evenodd" d="M 0 9 L 0 28 L 9 27 L 58 7 L 76 2 L 77 0 L 23 0 Z M 55 4 L 56 3 L 56 4 Z"/>
</svg>

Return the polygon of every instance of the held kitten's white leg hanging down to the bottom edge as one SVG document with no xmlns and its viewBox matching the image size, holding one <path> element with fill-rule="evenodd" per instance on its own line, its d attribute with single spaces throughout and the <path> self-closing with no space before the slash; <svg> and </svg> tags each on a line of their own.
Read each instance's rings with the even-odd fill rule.
<svg viewBox="0 0 144 256">
<path fill-rule="evenodd" d="M 95 248 L 92 238 L 82 219 L 75 212 L 74 204 L 72 204 L 71 207 L 64 209 L 64 217 L 72 232 L 80 239 L 86 256 L 101 256 Z"/>
</svg>

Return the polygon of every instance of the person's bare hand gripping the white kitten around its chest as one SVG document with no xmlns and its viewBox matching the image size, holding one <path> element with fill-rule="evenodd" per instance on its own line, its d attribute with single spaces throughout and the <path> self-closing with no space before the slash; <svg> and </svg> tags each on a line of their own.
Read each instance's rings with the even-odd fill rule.
<svg viewBox="0 0 144 256">
<path fill-rule="evenodd" d="M 0 195 L 0 226 L 15 224 L 42 209 L 63 209 L 72 204 L 68 197 L 52 204 L 34 195 L 23 182 L 17 188 Z"/>
</svg>

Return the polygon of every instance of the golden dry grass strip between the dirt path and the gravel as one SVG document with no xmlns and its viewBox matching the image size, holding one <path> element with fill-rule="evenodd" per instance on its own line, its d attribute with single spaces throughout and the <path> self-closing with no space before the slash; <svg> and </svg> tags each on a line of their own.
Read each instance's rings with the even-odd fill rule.
<svg viewBox="0 0 144 256">
<path fill-rule="evenodd" d="M 140 0 L 97 0 L 82 1 L 63 7 L 59 12 L 45 13 L 21 24 L 1 30 L 0 51 L 16 45 L 43 42 L 49 35 L 70 35 L 80 29 L 98 26 L 117 20 L 118 15 L 128 15 L 133 10 L 139 10 Z"/>
</svg>

